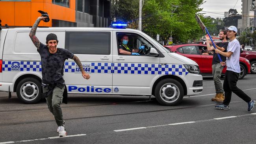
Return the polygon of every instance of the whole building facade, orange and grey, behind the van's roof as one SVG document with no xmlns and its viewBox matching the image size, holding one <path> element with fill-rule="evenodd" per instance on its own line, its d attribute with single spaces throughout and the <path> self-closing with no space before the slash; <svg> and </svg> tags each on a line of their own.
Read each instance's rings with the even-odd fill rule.
<svg viewBox="0 0 256 144">
<path fill-rule="evenodd" d="M 49 22 L 44 27 L 108 27 L 111 0 L 0 0 L 2 28 L 32 26 L 45 11 Z"/>
</svg>

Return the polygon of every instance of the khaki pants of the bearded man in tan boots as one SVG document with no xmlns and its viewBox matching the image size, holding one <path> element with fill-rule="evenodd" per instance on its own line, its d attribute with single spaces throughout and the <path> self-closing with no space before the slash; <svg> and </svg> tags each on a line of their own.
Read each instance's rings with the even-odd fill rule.
<svg viewBox="0 0 256 144">
<path fill-rule="evenodd" d="M 221 72 L 223 70 L 223 66 L 220 63 L 211 65 L 212 68 L 212 75 L 216 93 L 224 92 L 223 85 L 221 83 Z"/>
</svg>

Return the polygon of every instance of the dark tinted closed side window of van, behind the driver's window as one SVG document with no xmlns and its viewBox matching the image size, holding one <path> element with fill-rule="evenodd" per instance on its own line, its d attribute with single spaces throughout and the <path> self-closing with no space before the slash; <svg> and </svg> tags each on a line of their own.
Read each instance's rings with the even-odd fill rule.
<svg viewBox="0 0 256 144">
<path fill-rule="evenodd" d="M 73 54 L 109 55 L 110 44 L 110 32 L 66 31 L 65 49 Z"/>
</svg>

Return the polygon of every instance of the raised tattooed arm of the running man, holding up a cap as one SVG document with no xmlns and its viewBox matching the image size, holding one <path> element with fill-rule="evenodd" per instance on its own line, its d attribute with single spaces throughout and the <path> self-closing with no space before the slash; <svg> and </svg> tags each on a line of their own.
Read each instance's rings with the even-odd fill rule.
<svg viewBox="0 0 256 144">
<path fill-rule="evenodd" d="M 35 44 L 35 47 L 39 49 L 40 41 L 35 36 L 35 31 L 37 30 L 37 26 L 41 20 L 45 20 L 47 17 L 38 17 L 35 23 L 33 24 L 31 31 L 29 33 L 30 39 L 32 40 L 33 44 Z"/>
</svg>

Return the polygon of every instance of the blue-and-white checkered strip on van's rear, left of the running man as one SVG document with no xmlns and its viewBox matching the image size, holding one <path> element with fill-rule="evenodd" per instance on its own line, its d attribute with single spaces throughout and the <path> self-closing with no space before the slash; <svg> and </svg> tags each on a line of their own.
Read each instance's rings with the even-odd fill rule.
<svg viewBox="0 0 256 144">
<path fill-rule="evenodd" d="M 41 61 L 3 61 L 2 71 L 41 72 Z"/>
</svg>

